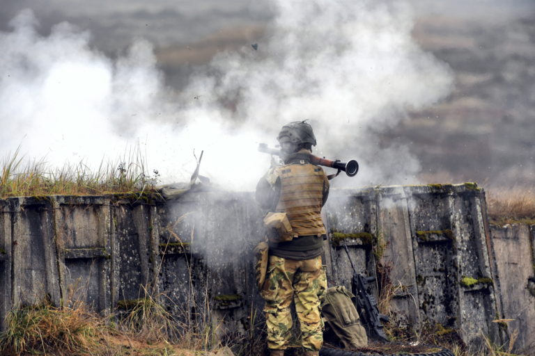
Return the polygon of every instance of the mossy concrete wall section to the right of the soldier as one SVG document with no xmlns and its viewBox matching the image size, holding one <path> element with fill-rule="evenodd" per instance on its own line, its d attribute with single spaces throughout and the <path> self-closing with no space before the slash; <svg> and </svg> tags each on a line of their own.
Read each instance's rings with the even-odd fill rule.
<svg viewBox="0 0 535 356">
<path fill-rule="evenodd" d="M 349 238 L 359 270 L 375 277 L 374 258 L 397 287 L 392 310 L 397 322 L 412 327 L 436 324 L 456 329 L 467 343 L 488 335 L 502 340 L 492 323 L 499 305 L 493 284 L 463 286 L 463 277 L 493 280 L 483 228 L 484 192 L 474 186 L 382 187 L 333 192 L 329 196 L 329 229 L 375 236 L 375 256 Z M 342 248 L 332 252 L 336 283 L 352 274 Z"/>
</svg>

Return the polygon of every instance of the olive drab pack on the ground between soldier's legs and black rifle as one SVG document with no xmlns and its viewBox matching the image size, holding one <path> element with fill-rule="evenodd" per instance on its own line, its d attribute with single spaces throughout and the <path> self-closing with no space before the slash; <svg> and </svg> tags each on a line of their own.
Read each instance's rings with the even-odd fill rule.
<svg viewBox="0 0 535 356">
<path fill-rule="evenodd" d="M 362 348 L 368 344 L 366 330 L 353 299 L 345 286 L 333 286 L 325 292 L 321 314 L 345 348 Z"/>
</svg>

